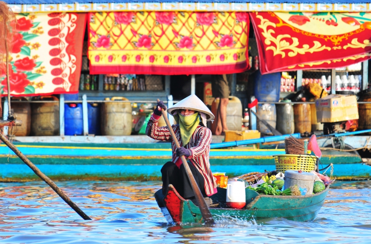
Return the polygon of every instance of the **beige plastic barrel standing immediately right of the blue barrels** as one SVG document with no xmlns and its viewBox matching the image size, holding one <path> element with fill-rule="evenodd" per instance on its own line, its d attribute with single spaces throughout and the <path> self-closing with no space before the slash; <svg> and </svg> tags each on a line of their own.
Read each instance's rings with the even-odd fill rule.
<svg viewBox="0 0 371 244">
<path fill-rule="evenodd" d="M 109 101 L 109 98 L 105 99 Z M 123 97 L 113 97 L 111 101 L 128 101 Z M 132 109 L 130 102 L 104 102 L 101 112 L 101 128 L 104 136 L 127 136 L 132 129 Z"/>
</svg>

